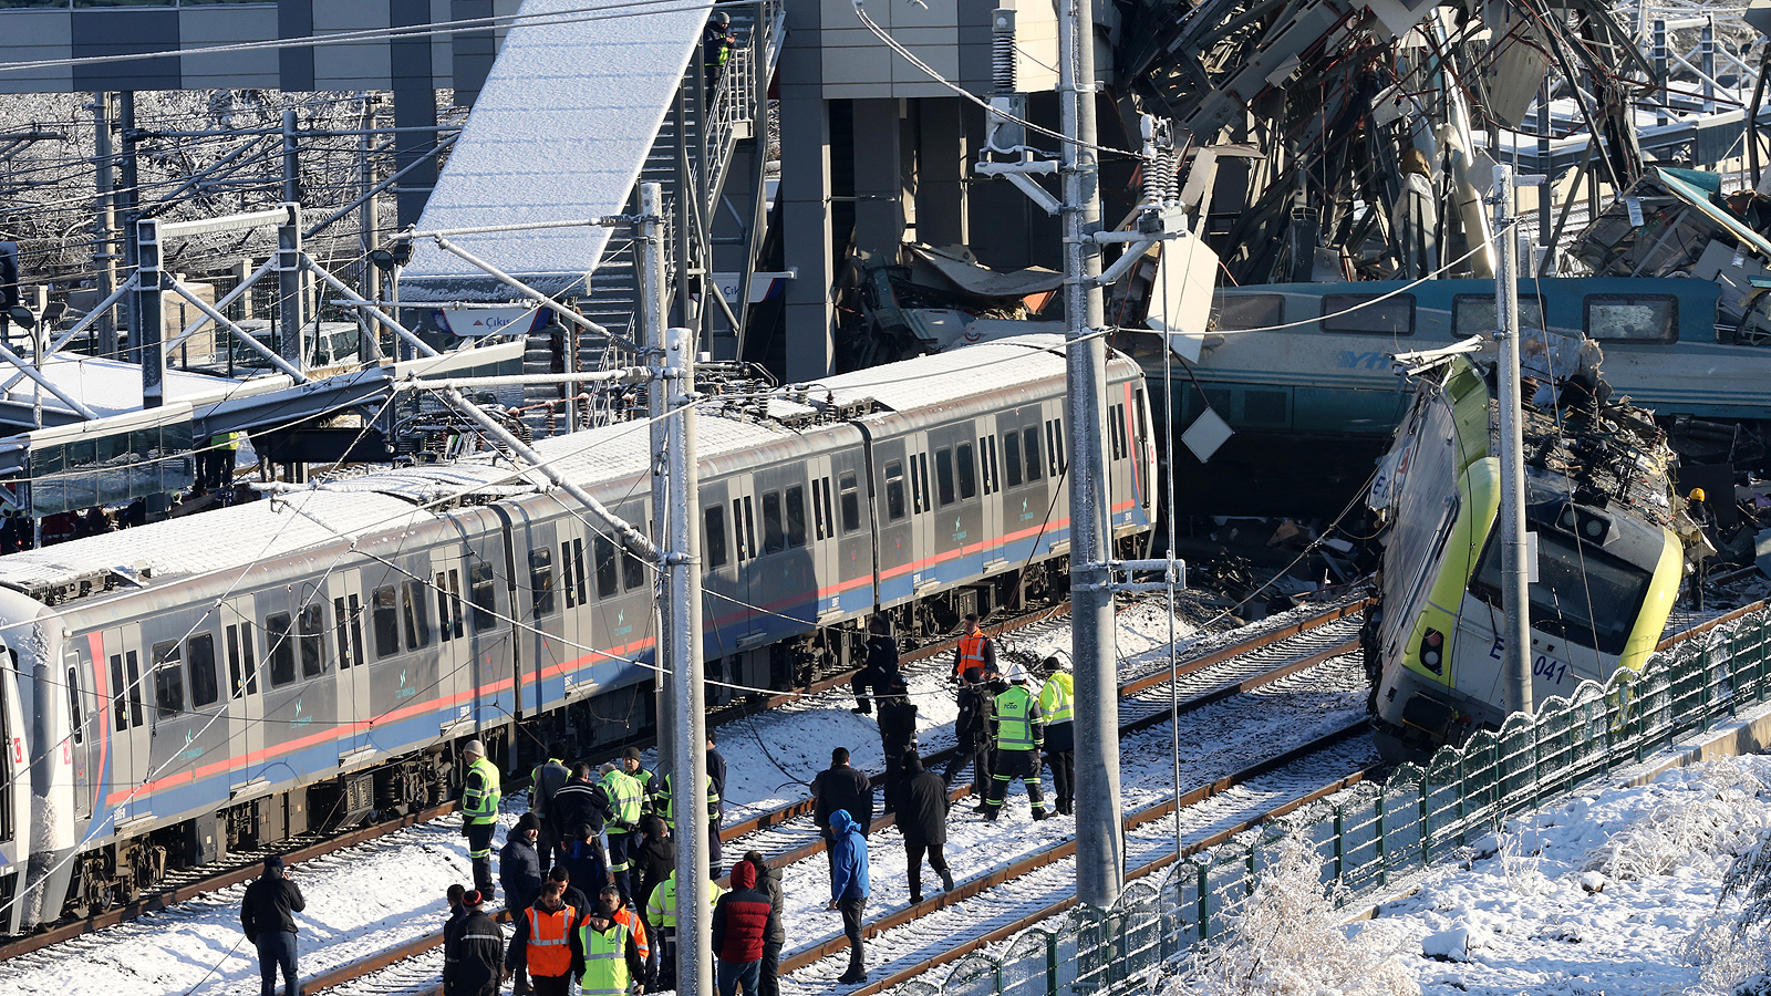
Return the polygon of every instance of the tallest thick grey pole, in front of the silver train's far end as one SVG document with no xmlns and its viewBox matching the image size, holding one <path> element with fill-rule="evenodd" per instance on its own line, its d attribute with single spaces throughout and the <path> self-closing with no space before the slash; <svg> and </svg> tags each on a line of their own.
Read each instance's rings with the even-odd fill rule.
<svg viewBox="0 0 1771 996">
<path fill-rule="evenodd" d="M 1102 427 L 1107 344 L 1098 276 L 1100 161 L 1094 142 L 1093 0 L 1059 0 L 1061 174 L 1064 179 L 1064 337 L 1070 424 L 1070 656 L 1077 712 L 1077 899 L 1107 907 L 1125 884 L 1119 819 L 1119 686 L 1112 620 L 1110 502 Z"/>
</svg>

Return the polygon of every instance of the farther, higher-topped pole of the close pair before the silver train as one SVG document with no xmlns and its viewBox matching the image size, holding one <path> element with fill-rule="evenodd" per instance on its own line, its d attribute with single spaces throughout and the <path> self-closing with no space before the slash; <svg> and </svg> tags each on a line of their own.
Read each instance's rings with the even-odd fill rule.
<svg viewBox="0 0 1771 996">
<path fill-rule="evenodd" d="M 646 356 L 639 362 L 652 365 L 659 363 L 664 356 L 664 225 L 661 211 L 664 209 L 664 191 L 661 184 L 643 183 L 639 184 L 639 344 L 645 346 Z M 668 432 L 669 427 L 664 425 L 664 393 L 659 390 L 659 383 L 653 381 L 646 385 L 646 416 L 652 420 L 652 519 L 653 530 L 652 539 L 661 549 L 666 548 L 664 535 L 668 523 L 664 521 L 664 509 L 669 509 L 669 477 L 666 466 L 666 452 L 669 448 Z M 671 652 L 671 626 L 668 615 L 669 603 L 659 603 L 659 645 L 652 658 L 657 661 L 659 670 L 655 675 L 655 696 L 659 711 L 659 771 L 675 771 L 675 739 L 666 735 L 666 730 L 677 728 L 677 707 L 673 698 L 673 686 L 677 684 L 673 675 L 668 673 L 669 661 L 677 659 Z M 678 884 L 682 879 L 677 879 Z"/>
</svg>

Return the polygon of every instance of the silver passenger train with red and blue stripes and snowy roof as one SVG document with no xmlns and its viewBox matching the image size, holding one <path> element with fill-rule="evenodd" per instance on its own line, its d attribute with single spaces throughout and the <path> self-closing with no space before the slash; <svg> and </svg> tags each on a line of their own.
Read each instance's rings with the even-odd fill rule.
<svg viewBox="0 0 1771 996">
<path fill-rule="evenodd" d="M 1107 381 L 1112 530 L 1139 553 L 1149 409 L 1135 363 Z M 708 677 L 790 688 L 880 608 L 932 636 L 1059 597 L 1064 436 L 1052 335 L 712 404 Z M 623 519 L 655 516 L 645 422 L 535 448 Z M 515 771 L 524 743 L 652 727 L 653 569 L 531 480 L 485 455 L 0 558 L 5 930 L 443 801 L 469 737 Z"/>
</svg>

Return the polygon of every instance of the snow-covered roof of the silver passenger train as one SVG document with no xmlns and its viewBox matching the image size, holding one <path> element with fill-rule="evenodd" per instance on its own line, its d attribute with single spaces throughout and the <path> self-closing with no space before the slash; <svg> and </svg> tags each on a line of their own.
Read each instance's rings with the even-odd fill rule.
<svg viewBox="0 0 1771 996">
<path fill-rule="evenodd" d="M 848 416 L 875 408 L 900 413 L 940 408 L 976 397 L 981 388 L 1006 390 L 1061 376 L 1064 358 L 1052 351 L 1061 346 L 1057 335 L 1027 335 L 839 374 L 811 385 L 813 404 L 783 408 L 816 411 L 834 402 L 850 411 Z M 792 422 L 760 416 L 758 406 L 715 408 L 700 420 L 701 457 L 730 459 L 790 441 L 800 436 Z M 652 443 L 646 424 L 634 420 L 542 440 L 535 450 L 567 479 L 593 487 L 643 473 Z M 51 603 L 133 583 L 159 587 L 326 546 L 340 537 L 400 533 L 446 514 L 432 510 L 432 503 L 468 494 L 530 494 L 540 482 L 538 471 L 519 475 L 508 457 L 494 454 L 381 470 L 282 491 L 275 500 L 0 556 L 0 585 Z M 142 569 L 149 578 L 142 578 Z"/>
</svg>

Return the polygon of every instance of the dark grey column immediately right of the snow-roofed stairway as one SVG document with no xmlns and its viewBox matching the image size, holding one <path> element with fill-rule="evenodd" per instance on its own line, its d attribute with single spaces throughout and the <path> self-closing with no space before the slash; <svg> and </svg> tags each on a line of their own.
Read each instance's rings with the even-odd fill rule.
<svg viewBox="0 0 1771 996">
<path fill-rule="evenodd" d="M 781 227 L 783 257 L 799 278 L 786 282 L 786 377 L 829 376 L 834 358 L 831 284 L 831 113 L 824 99 L 822 14 L 788 4 L 781 51 Z"/>
</svg>

